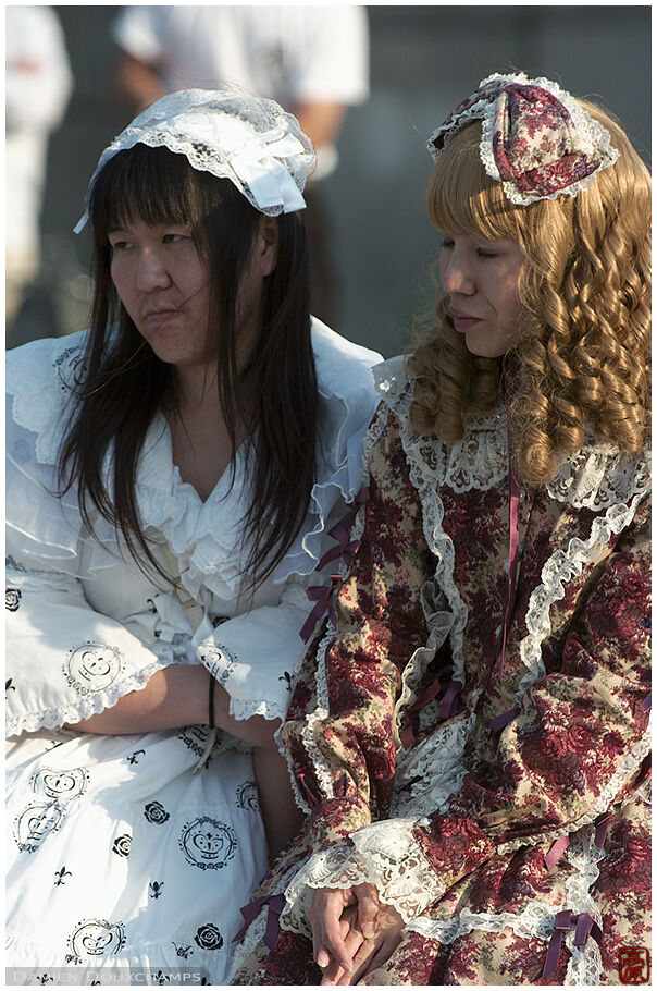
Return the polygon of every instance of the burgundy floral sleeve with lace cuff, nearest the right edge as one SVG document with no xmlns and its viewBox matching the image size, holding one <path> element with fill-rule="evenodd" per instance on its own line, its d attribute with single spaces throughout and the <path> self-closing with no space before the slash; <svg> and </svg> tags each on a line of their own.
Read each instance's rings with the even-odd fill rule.
<svg viewBox="0 0 657 991">
<path fill-rule="evenodd" d="M 365 881 L 409 922 L 492 857 L 568 846 L 631 794 L 650 748 L 649 561 L 643 499 L 586 589 L 557 671 L 509 713 L 485 776 L 466 773 L 425 818 L 381 820 L 315 853 L 288 885 L 282 925 L 306 931 L 312 889 Z"/>
</svg>

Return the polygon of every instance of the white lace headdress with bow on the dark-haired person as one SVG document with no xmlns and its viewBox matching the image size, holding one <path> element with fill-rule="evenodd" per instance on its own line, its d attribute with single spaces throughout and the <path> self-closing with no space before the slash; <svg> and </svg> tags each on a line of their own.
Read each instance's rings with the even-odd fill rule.
<svg viewBox="0 0 657 991">
<path fill-rule="evenodd" d="M 171 93 L 139 113 L 104 149 L 76 233 L 89 219 L 98 173 L 114 155 L 137 144 L 163 146 L 201 172 L 230 179 L 251 206 L 271 216 L 305 209 L 301 192 L 317 158 L 297 119 L 275 100 L 230 90 Z"/>
</svg>

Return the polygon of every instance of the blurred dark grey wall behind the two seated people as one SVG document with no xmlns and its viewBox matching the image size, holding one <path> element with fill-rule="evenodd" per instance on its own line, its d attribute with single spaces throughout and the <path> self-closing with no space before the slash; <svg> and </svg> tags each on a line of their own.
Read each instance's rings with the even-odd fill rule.
<svg viewBox="0 0 657 991">
<path fill-rule="evenodd" d="M 21 317 L 26 337 L 80 329 L 88 242 L 70 233 L 87 179 L 126 123 L 110 99 L 119 8 L 57 7 L 75 90 L 50 145 L 45 270 Z M 425 140 L 481 78 L 525 71 L 600 100 L 648 160 L 650 8 L 644 5 L 368 7 L 371 98 L 349 112 L 340 166 L 324 183 L 340 281 L 336 329 L 386 356 L 431 299 L 436 235 L 424 210 Z"/>
</svg>

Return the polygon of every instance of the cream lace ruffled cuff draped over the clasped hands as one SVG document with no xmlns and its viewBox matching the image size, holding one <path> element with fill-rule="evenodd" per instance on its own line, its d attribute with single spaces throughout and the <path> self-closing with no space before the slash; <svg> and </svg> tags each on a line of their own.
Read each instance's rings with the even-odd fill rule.
<svg viewBox="0 0 657 991">
<path fill-rule="evenodd" d="M 431 864 L 412 836 L 424 820 L 386 819 L 358 830 L 350 844 L 336 843 L 314 854 L 285 891 L 281 926 L 310 934 L 308 910 L 319 888 L 373 884 L 382 902 L 397 909 L 405 922 L 421 915 L 444 893 Z"/>
</svg>

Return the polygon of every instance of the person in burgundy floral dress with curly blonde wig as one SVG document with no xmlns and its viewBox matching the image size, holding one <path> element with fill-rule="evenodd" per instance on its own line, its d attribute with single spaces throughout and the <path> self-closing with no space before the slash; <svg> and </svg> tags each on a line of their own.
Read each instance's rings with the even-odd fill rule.
<svg viewBox="0 0 657 991">
<path fill-rule="evenodd" d="M 649 176 L 522 74 L 429 148 L 437 323 L 375 372 L 367 498 L 284 726 L 309 825 L 237 983 L 646 965 Z"/>
</svg>

